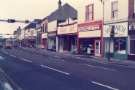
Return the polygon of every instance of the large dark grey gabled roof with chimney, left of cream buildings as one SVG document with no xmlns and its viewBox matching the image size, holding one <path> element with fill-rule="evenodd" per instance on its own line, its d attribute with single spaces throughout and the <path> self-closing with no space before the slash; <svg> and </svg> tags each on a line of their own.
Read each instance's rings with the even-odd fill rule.
<svg viewBox="0 0 135 90">
<path fill-rule="evenodd" d="M 67 18 L 77 19 L 77 10 L 66 3 L 48 16 L 48 22 L 54 20 L 65 21 Z"/>
</svg>

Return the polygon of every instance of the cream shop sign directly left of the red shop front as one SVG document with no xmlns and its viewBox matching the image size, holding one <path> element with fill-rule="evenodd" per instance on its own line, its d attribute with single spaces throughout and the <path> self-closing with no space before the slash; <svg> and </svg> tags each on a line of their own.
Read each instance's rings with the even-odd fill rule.
<svg viewBox="0 0 135 90">
<path fill-rule="evenodd" d="M 77 24 L 58 27 L 58 35 L 77 33 Z"/>
</svg>

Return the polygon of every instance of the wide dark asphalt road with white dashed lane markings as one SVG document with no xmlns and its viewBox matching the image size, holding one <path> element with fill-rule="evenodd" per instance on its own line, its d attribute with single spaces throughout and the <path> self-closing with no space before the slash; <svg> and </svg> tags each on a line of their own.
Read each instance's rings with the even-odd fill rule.
<svg viewBox="0 0 135 90">
<path fill-rule="evenodd" d="M 135 90 L 135 69 L 2 49 L 0 67 L 24 90 Z"/>
</svg>

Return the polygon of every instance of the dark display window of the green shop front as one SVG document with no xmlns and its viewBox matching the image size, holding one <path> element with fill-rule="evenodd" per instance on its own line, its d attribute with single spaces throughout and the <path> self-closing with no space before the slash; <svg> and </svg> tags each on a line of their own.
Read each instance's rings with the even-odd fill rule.
<svg viewBox="0 0 135 90">
<path fill-rule="evenodd" d="M 114 40 L 114 50 L 120 54 L 126 54 L 126 39 L 117 38 Z"/>
</svg>

